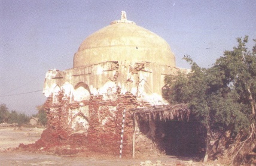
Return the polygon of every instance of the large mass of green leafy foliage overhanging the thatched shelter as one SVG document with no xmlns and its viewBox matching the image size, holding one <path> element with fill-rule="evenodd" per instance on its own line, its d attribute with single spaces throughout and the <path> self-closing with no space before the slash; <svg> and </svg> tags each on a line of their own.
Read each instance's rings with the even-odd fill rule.
<svg viewBox="0 0 256 166">
<path fill-rule="evenodd" d="M 233 133 L 249 129 L 255 121 L 256 45 L 248 51 L 248 36 L 237 42 L 233 51 L 224 51 L 210 68 L 184 57 L 191 72 L 166 77 L 164 98 L 170 104 L 188 104 L 193 120 L 208 126 L 218 124 Z"/>
</svg>

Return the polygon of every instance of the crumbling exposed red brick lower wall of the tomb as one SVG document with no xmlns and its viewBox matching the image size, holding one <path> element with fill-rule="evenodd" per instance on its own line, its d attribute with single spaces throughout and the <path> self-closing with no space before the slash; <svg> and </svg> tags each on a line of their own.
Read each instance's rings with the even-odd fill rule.
<svg viewBox="0 0 256 166">
<path fill-rule="evenodd" d="M 147 107 L 149 106 L 147 102 L 138 102 L 136 96 L 129 92 L 124 95 L 116 94 L 115 100 L 103 100 L 102 95 L 91 95 L 89 101 L 80 102 L 75 102 L 63 94 L 63 90 L 59 92 L 57 102 L 53 102 L 53 96 L 49 96 L 44 104 L 48 125 L 37 142 L 38 148 L 40 148 L 39 146 L 46 149 L 54 146 L 68 146 L 69 148 L 89 149 L 119 156 L 123 111 L 126 109 L 123 156 L 132 156 L 134 124 L 133 112 L 129 109 Z M 89 107 L 89 117 L 79 111 L 82 106 Z M 72 110 L 76 110 L 76 112 L 72 113 Z M 72 124 L 74 124 L 72 120 L 75 116 L 84 117 L 89 121 L 88 130 L 82 130 L 84 133 L 77 133 L 75 129 L 72 129 Z M 83 128 L 82 125 L 81 127 Z M 150 142 L 138 141 L 136 142 L 138 148 L 140 146 L 147 147 Z M 148 151 L 152 154 L 152 148 L 145 147 L 136 153 L 147 154 Z"/>
</svg>

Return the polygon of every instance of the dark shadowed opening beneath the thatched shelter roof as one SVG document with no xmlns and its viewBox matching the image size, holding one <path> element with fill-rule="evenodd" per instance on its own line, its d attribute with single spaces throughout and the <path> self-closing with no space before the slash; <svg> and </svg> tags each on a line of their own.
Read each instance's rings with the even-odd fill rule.
<svg viewBox="0 0 256 166">
<path fill-rule="evenodd" d="M 184 121 L 156 121 L 155 142 L 166 155 L 205 155 L 205 127 Z"/>
</svg>

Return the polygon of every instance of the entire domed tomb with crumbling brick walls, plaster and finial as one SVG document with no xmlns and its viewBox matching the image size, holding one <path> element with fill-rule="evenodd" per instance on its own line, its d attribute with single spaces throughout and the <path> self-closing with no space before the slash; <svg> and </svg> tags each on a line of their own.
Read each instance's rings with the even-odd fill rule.
<svg viewBox="0 0 256 166">
<path fill-rule="evenodd" d="M 175 56 L 164 39 L 136 26 L 122 12 L 121 20 L 112 21 L 81 43 L 74 68 L 46 73 L 43 93 L 48 124 L 36 147 L 72 145 L 113 155 L 120 155 L 120 147 L 124 155 L 169 152 L 170 148 L 162 147 L 172 144 L 174 137 L 164 129 L 173 125 L 154 118 L 135 123 L 135 113 L 148 118 L 154 109 L 168 111 L 170 105 L 161 96 L 164 78 L 187 72 L 175 67 Z M 163 138 L 158 146 L 156 140 Z"/>
</svg>

